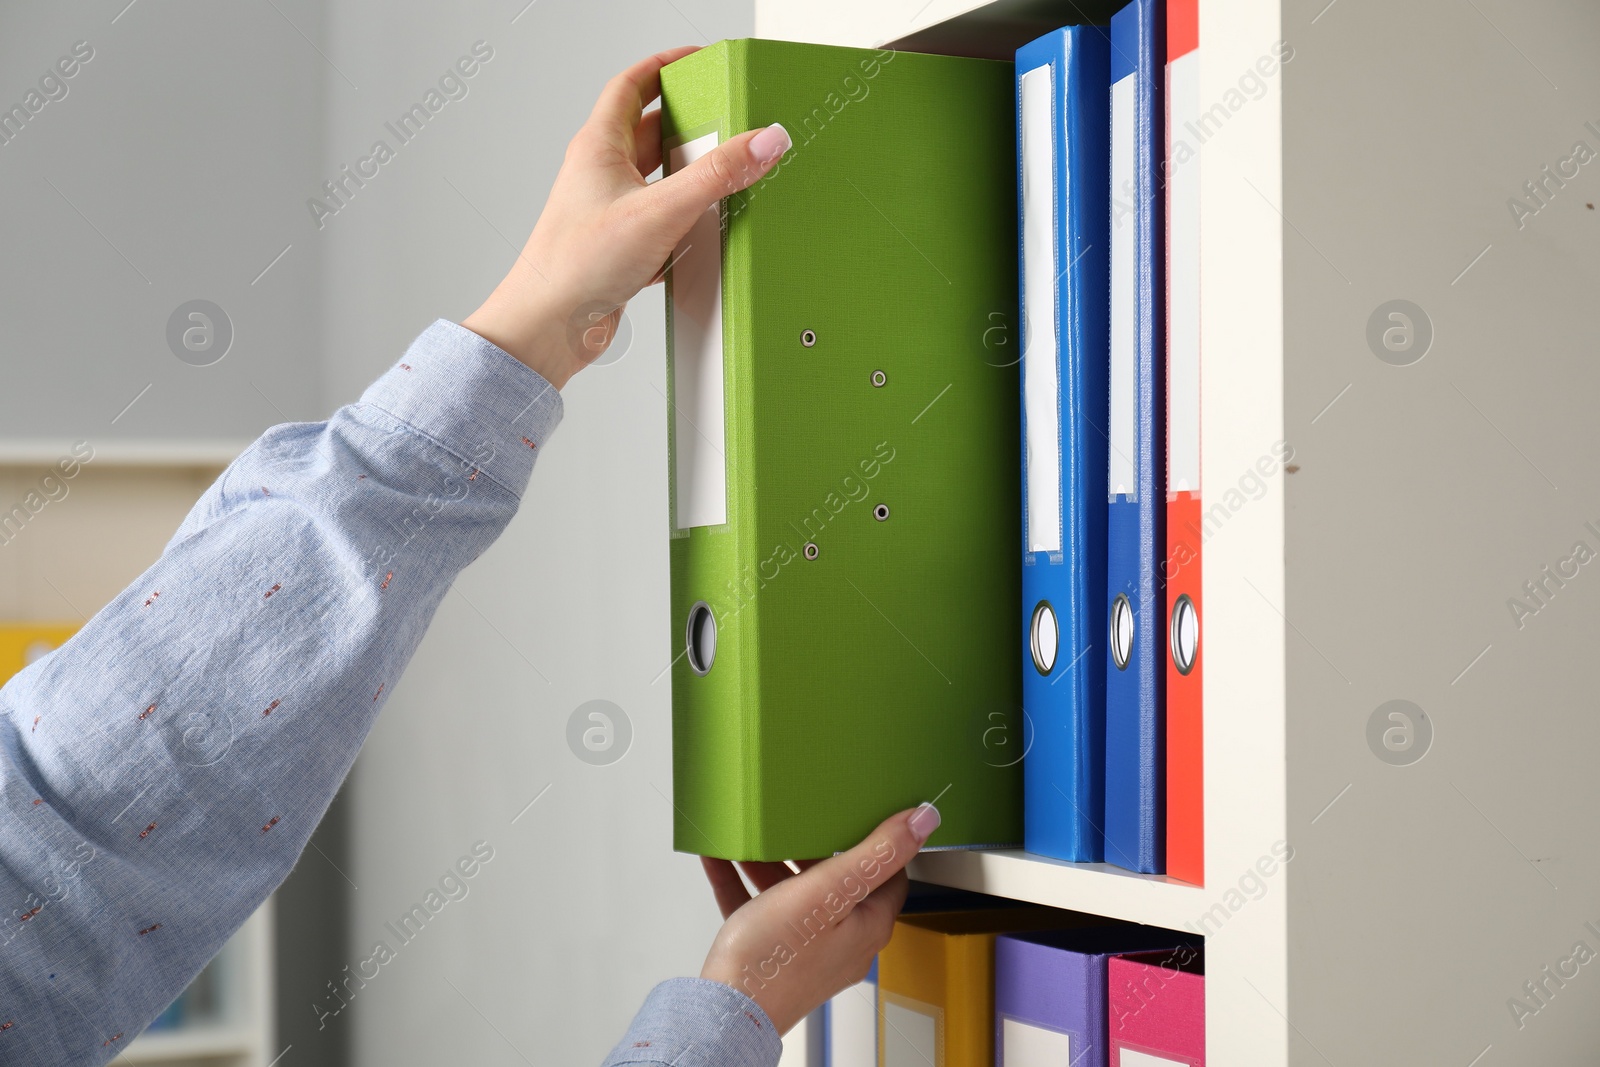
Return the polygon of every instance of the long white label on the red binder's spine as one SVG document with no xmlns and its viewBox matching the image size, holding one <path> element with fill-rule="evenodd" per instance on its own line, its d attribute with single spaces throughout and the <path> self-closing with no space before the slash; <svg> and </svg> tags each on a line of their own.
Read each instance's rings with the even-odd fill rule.
<svg viewBox="0 0 1600 1067">
<path fill-rule="evenodd" d="M 1166 491 L 1200 491 L 1200 157 L 1179 130 L 1200 120 L 1200 53 L 1166 67 Z M 1179 147 L 1181 146 L 1181 147 Z"/>
</svg>

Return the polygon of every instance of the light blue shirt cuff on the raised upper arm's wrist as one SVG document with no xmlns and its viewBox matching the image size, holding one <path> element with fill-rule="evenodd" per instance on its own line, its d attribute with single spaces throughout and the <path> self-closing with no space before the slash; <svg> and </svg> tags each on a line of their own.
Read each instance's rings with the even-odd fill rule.
<svg viewBox="0 0 1600 1067">
<path fill-rule="evenodd" d="M 387 411 L 517 496 L 562 421 L 555 386 L 446 318 L 424 330 L 368 386 L 362 403 Z"/>
</svg>

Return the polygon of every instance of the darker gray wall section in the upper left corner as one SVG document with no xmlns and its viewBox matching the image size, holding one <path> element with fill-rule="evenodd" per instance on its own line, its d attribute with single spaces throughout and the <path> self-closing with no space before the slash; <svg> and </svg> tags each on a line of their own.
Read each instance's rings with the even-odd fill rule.
<svg viewBox="0 0 1600 1067">
<path fill-rule="evenodd" d="M 0 438 L 250 440 L 314 418 L 325 301 L 301 202 L 322 170 L 323 61 L 307 37 L 323 10 L 126 3 L 0 5 L 6 110 L 75 42 L 93 48 L 66 96 L 0 144 Z M 234 322 L 213 366 L 168 350 L 166 320 L 190 299 Z"/>
</svg>

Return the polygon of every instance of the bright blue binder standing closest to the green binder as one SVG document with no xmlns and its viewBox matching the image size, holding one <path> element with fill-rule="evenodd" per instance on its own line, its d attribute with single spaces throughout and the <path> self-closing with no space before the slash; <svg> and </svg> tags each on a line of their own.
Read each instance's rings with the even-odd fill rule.
<svg viewBox="0 0 1600 1067">
<path fill-rule="evenodd" d="M 1104 859 L 1110 42 L 1016 53 L 1027 851 Z"/>
</svg>

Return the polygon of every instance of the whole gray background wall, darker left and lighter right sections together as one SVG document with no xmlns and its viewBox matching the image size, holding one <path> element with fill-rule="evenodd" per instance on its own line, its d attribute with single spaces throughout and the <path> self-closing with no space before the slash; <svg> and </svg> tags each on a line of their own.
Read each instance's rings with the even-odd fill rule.
<svg viewBox="0 0 1600 1067">
<path fill-rule="evenodd" d="M 0 104 L 74 42 L 94 48 L 0 146 L 0 438 L 248 440 L 326 416 L 493 288 L 606 78 L 752 29 L 736 0 L 523 5 L 0 3 Z M 478 40 L 494 56 L 467 94 L 318 229 L 307 197 L 394 144 L 384 123 Z M 165 338 L 195 298 L 235 333 L 205 368 Z M 563 390 L 523 514 L 446 597 L 314 838 L 326 856 L 280 897 L 282 1067 L 598 1062 L 654 982 L 699 969 L 717 915 L 699 864 L 669 848 L 658 681 L 659 288 L 629 320 L 626 355 Z M 608 766 L 566 745 L 590 699 L 632 725 Z M 469 894 L 318 1029 L 326 982 L 392 944 L 384 925 L 475 841 L 494 859 Z"/>
</svg>

